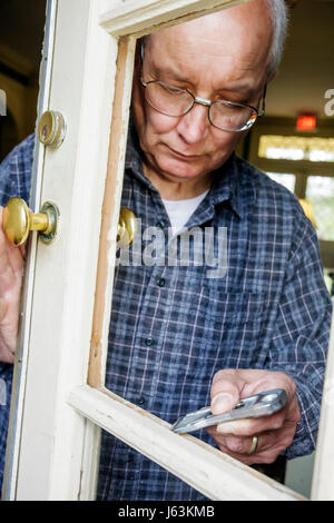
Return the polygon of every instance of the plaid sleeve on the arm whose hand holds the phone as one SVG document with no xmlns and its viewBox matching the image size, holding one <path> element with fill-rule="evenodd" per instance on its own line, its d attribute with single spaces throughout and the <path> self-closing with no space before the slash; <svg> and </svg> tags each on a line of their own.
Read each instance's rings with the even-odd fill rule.
<svg viewBox="0 0 334 523">
<path fill-rule="evenodd" d="M 287 458 L 311 454 L 316 445 L 332 317 L 317 236 L 299 206 L 297 211 L 269 352 L 271 369 L 285 372 L 297 385 L 301 422 Z"/>
</svg>

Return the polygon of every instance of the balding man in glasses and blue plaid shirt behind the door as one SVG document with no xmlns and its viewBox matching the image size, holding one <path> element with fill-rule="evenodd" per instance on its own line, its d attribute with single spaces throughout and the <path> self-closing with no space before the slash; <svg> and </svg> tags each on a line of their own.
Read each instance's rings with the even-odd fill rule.
<svg viewBox="0 0 334 523">
<path fill-rule="evenodd" d="M 283 0 L 253 0 L 138 46 L 121 205 L 143 227 L 173 227 L 174 240 L 225 227 L 227 268 L 209 278 L 195 263 L 119 263 L 109 334 L 107 386 L 168 422 L 284 388 L 279 413 L 198 434 L 246 464 L 314 450 L 330 330 L 311 223 L 292 194 L 234 154 L 264 112 L 285 24 Z M 30 137 L 1 167 L 2 203 L 28 198 L 32 149 Z M 12 362 L 22 260 L 1 241 L 0 354 Z M 104 434 L 98 499 L 203 496 Z"/>
</svg>

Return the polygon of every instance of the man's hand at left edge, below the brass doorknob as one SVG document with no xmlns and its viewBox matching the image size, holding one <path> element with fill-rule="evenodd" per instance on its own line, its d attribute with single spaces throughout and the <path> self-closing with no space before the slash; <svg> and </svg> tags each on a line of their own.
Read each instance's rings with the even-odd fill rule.
<svg viewBox="0 0 334 523">
<path fill-rule="evenodd" d="M 8 241 L 2 230 L 2 211 L 0 207 L 0 362 L 13 363 L 24 248 Z"/>
</svg>

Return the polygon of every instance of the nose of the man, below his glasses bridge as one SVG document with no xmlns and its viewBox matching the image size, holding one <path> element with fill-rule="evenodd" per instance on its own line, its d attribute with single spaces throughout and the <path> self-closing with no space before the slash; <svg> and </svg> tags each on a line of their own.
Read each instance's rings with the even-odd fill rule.
<svg viewBox="0 0 334 523">
<path fill-rule="evenodd" d="M 195 145 L 203 140 L 209 125 L 207 107 L 195 103 L 189 112 L 180 118 L 177 130 L 187 144 Z"/>
</svg>

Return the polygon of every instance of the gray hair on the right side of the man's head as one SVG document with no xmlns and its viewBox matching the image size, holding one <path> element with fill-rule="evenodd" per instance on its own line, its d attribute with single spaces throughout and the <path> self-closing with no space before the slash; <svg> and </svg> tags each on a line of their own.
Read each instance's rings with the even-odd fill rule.
<svg viewBox="0 0 334 523">
<path fill-rule="evenodd" d="M 287 33 L 288 9 L 285 0 L 267 0 L 269 3 L 273 42 L 271 50 L 269 73 L 275 71 L 281 62 L 284 49 L 284 41 Z"/>
</svg>

